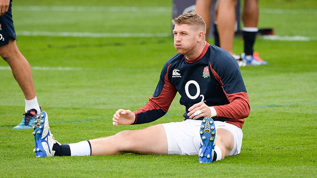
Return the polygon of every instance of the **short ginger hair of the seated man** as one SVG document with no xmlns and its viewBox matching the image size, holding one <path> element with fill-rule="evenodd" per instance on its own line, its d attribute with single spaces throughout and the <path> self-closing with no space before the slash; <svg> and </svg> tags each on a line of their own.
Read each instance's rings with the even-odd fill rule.
<svg viewBox="0 0 317 178">
<path fill-rule="evenodd" d="M 190 26 L 196 26 L 199 27 L 204 32 L 204 34 L 206 34 L 206 23 L 204 19 L 194 12 L 184 13 L 176 17 L 172 20 L 172 23 L 173 25 L 187 24 Z"/>
</svg>

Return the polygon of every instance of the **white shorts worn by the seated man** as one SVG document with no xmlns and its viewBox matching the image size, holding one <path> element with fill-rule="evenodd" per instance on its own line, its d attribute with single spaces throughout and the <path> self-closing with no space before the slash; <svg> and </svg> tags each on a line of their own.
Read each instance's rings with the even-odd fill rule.
<svg viewBox="0 0 317 178">
<path fill-rule="evenodd" d="M 201 120 L 192 119 L 162 124 L 167 137 L 168 154 L 198 155 L 201 124 Z M 234 137 L 234 146 L 229 155 L 239 154 L 242 145 L 242 130 L 225 122 L 215 121 L 214 124 L 216 129 L 228 130 Z"/>
</svg>

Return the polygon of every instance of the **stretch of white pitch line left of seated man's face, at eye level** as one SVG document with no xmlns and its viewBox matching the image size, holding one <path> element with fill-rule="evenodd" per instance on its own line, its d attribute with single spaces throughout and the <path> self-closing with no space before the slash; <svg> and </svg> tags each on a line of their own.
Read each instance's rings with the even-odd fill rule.
<svg viewBox="0 0 317 178">
<path fill-rule="evenodd" d="M 90 38 L 106 38 L 106 37 L 169 37 L 167 33 L 90 33 L 90 32 L 30 32 L 18 31 L 17 36 L 46 36 L 46 37 L 90 37 Z"/>
</svg>

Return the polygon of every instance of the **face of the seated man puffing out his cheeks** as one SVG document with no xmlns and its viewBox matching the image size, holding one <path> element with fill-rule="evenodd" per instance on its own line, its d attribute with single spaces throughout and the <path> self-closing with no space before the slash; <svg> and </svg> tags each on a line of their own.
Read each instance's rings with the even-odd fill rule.
<svg viewBox="0 0 317 178">
<path fill-rule="evenodd" d="M 198 42 L 199 32 L 187 24 L 175 24 L 174 47 L 179 54 L 190 55 Z"/>
</svg>

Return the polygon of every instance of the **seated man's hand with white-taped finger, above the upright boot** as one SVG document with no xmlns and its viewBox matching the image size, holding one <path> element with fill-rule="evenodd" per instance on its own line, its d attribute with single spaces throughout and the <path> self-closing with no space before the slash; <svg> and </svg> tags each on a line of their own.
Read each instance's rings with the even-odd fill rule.
<svg viewBox="0 0 317 178">
<path fill-rule="evenodd" d="M 200 117 L 210 117 L 211 116 L 211 110 L 209 106 L 207 106 L 204 102 L 199 102 L 194 105 L 192 105 L 188 109 L 189 113 L 187 113 L 187 116 L 189 116 L 190 119 L 198 119 Z"/>
</svg>

